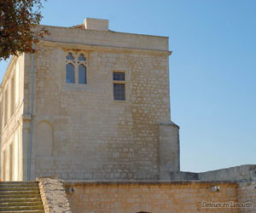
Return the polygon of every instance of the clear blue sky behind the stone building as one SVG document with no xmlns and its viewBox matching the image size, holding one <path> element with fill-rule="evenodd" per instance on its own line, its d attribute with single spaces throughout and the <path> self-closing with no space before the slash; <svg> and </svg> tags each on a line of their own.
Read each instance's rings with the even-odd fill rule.
<svg viewBox="0 0 256 213">
<path fill-rule="evenodd" d="M 169 37 L 181 170 L 256 164 L 256 1 L 49 0 L 43 15 L 43 25 L 102 18 L 116 32 Z"/>
</svg>

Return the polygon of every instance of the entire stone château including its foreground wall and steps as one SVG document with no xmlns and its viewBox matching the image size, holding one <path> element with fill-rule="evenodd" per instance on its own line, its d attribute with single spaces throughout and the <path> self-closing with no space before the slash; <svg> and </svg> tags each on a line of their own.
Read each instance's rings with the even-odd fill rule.
<svg viewBox="0 0 256 213">
<path fill-rule="evenodd" d="M 255 164 L 180 171 L 168 37 L 38 27 L 1 84 L 1 212 L 256 212 Z"/>
</svg>

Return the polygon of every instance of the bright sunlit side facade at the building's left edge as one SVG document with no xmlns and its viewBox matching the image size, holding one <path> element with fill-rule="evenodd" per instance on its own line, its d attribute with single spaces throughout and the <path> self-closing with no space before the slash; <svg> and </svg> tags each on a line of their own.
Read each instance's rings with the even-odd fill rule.
<svg viewBox="0 0 256 213">
<path fill-rule="evenodd" d="M 24 55 L 12 57 L 1 83 L 1 179 L 23 179 L 22 121 Z"/>
</svg>

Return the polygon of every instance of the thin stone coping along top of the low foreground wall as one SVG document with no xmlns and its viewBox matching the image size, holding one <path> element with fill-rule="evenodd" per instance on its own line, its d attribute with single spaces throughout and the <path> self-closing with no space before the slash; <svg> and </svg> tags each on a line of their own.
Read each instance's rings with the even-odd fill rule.
<svg viewBox="0 0 256 213">
<path fill-rule="evenodd" d="M 65 187 L 84 185 L 232 185 L 238 181 L 62 181 Z"/>
</svg>

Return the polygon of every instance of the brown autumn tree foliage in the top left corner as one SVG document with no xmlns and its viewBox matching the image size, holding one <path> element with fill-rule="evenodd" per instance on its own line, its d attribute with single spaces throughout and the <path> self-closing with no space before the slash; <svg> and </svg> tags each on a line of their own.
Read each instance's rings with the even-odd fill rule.
<svg viewBox="0 0 256 213">
<path fill-rule="evenodd" d="M 40 0 L 0 0 L 0 60 L 10 55 L 32 53 L 32 42 L 49 34 L 35 27 L 43 18 Z"/>
</svg>

